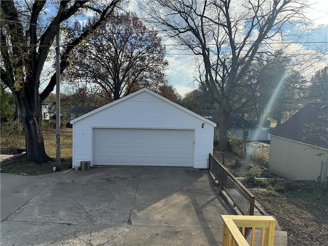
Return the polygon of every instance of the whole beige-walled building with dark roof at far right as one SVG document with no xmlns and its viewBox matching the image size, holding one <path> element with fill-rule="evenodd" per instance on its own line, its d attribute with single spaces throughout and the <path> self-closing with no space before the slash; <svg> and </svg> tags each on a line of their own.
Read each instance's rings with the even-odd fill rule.
<svg viewBox="0 0 328 246">
<path fill-rule="evenodd" d="M 310 104 L 272 131 L 270 171 L 289 179 L 326 177 L 327 117 L 328 104 Z M 306 131 L 310 124 L 321 129 L 313 129 L 309 134 Z"/>
</svg>

